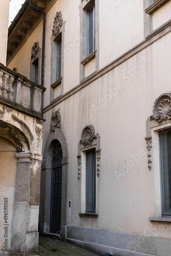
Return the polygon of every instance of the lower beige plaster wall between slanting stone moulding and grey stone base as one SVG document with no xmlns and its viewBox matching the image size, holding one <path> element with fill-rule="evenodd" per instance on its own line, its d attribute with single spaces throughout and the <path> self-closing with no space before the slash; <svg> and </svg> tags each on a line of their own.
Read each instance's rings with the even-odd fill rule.
<svg viewBox="0 0 171 256">
<path fill-rule="evenodd" d="M 67 140 L 68 225 L 170 238 L 169 225 L 148 220 L 155 216 L 155 171 L 148 170 L 144 140 L 155 99 L 170 92 L 170 41 L 169 33 L 45 113 L 44 143 L 52 111 L 59 108 Z M 78 142 L 88 124 L 94 125 L 101 143 L 97 219 L 78 216 Z"/>
</svg>

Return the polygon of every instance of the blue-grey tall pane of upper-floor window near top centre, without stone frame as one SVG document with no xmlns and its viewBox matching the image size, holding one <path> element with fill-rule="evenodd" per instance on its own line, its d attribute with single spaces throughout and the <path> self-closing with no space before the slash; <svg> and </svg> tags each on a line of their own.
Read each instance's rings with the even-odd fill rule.
<svg viewBox="0 0 171 256">
<path fill-rule="evenodd" d="M 95 50 L 95 6 L 87 14 L 87 55 Z"/>
</svg>

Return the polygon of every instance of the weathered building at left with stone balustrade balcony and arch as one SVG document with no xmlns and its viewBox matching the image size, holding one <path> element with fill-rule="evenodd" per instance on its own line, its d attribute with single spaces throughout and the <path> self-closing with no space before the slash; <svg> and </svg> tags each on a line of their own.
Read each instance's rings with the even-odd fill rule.
<svg viewBox="0 0 171 256">
<path fill-rule="evenodd" d="M 0 254 L 30 255 L 38 250 L 45 88 L 6 67 L 9 2 L 0 1 Z"/>
</svg>

